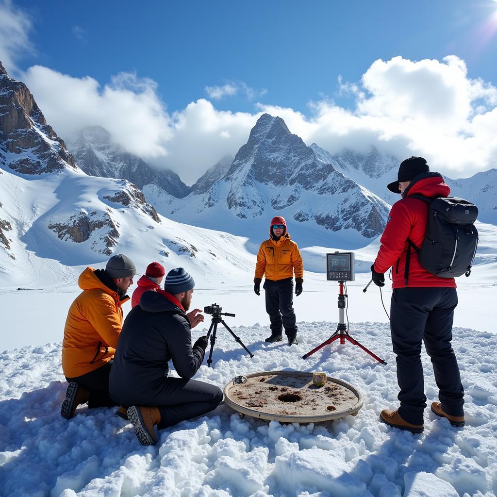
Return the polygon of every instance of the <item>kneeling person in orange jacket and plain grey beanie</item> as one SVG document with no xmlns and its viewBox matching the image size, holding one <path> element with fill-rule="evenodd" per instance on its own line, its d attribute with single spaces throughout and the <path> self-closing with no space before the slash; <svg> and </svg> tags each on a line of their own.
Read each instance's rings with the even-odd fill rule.
<svg viewBox="0 0 497 497">
<path fill-rule="evenodd" d="M 126 291 L 135 274 L 133 261 L 118 254 L 105 269 L 87 267 L 78 279 L 83 292 L 69 308 L 62 341 L 62 370 L 69 382 L 61 408 L 66 419 L 86 402 L 90 409 L 116 405 L 109 395 L 109 375 L 122 330 L 121 306 L 129 300 Z"/>
</svg>

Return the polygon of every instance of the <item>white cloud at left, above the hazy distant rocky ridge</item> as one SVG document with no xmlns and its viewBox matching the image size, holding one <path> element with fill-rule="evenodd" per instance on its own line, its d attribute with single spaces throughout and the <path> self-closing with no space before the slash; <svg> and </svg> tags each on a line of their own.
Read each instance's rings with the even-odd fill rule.
<svg viewBox="0 0 497 497">
<path fill-rule="evenodd" d="M 23 75 L 47 122 L 63 138 L 99 124 L 133 154 L 150 159 L 166 156 L 170 119 L 157 84 L 121 73 L 100 87 L 90 78 L 73 78 L 42 66 Z"/>
</svg>

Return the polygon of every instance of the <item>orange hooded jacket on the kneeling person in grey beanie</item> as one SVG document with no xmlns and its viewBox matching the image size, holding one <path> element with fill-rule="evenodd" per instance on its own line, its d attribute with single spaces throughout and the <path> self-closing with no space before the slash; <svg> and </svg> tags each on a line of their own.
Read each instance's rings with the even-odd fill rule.
<svg viewBox="0 0 497 497">
<path fill-rule="evenodd" d="M 62 341 L 62 370 L 76 378 L 114 357 L 122 329 L 121 305 L 129 300 L 104 285 L 87 267 L 78 279 L 83 290 L 69 308 Z"/>
</svg>

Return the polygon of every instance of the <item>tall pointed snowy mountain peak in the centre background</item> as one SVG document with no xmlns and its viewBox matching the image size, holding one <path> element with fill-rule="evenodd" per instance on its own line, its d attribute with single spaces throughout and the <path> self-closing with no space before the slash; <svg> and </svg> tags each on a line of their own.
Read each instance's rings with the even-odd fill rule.
<svg viewBox="0 0 497 497">
<path fill-rule="evenodd" d="M 283 119 L 269 114 L 259 118 L 226 175 L 203 191 L 192 190 L 182 201 L 162 203 L 158 210 L 209 228 L 226 229 L 229 223 L 229 231 L 237 235 L 254 226 L 265 233 L 268 220 L 278 213 L 293 221 L 292 233 L 305 233 L 306 243 L 347 247 L 379 235 L 389 212 L 386 202 L 322 159 Z"/>
</svg>

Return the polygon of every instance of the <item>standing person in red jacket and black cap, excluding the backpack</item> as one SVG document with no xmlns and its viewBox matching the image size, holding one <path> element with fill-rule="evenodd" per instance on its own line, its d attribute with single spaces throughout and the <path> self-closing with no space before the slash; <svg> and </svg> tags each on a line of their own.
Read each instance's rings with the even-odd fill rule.
<svg viewBox="0 0 497 497">
<path fill-rule="evenodd" d="M 426 160 L 411 157 L 399 167 L 397 181 L 388 189 L 402 198 L 392 206 L 381 247 L 371 266 L 377 286 L 385 285 L 385 272 L 392 267 L 392 301 L 390 329 L 393 351 L 397 358 L 397 380 L 400 407 L 383 410 L 380 418 L 397 428 L 420 433 L 426 407 L 421 342 L 431 357 L 440 402 L 431 410 L 449 419 L 454 426 L 464 425 L 464 389 L 457 359 L 452 350 L 452 323 L 457 305 L 454 278 L 441 278 L 426 271 L 409 250 L 408 239 L 421 247 L 428 222 L 428 203 L 413 197 L 446 197 L 449 186 L 438 172 L 430 172 Z"/>
</svg>

